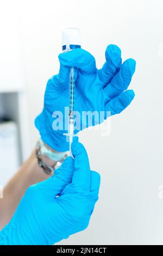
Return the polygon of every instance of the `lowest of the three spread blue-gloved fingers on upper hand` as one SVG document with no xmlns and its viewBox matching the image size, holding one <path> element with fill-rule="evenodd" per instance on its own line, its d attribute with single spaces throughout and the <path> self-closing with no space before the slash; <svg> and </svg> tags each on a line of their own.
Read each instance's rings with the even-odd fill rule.
<svg viewBox="0 0 163 256">
<path fill-rule="evenodd" d="M 119 96 L 110 100 L 105 104 L 105 111 L 110 111 L 111 115 L 119 114 L 130 105 L 131 101 L 134 99 L 135 93 L 133 90 L 126 90 Z"/>
</svg>

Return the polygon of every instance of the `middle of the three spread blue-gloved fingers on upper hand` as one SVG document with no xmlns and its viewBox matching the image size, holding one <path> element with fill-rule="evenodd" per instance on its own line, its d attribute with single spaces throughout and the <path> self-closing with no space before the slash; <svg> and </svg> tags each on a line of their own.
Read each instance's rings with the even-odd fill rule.
<svg viewBox="0 0 163 256">
<path fill-rule="evenodd" d="M 121 66 L 120 71 L 112 78 L 108 86 L 104 87 L 104 92 L 113 99 L 126 90 L 135 72 L 136 62 L 134 59 L 127 59 Z"/>
</svg>

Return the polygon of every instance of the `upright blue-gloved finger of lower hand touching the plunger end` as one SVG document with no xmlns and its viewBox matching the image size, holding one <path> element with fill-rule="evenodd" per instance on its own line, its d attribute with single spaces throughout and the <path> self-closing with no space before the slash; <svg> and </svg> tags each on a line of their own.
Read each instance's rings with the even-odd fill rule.
<svg viewBox="0 0 163 256">
<path fill-rule="evenodd" d="M 90 191 L 90 164 L 84 146 L 77 140 L 72 143 L 74 156 L 74 172 L 71 187 L 75 191 Z"/>
</svg>

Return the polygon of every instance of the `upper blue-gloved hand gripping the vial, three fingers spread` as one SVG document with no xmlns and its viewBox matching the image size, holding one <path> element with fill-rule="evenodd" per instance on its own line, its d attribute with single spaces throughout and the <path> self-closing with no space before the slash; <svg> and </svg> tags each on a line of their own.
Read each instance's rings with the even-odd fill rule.
<svg viewBox="0 0 163 256">
<path fill-rule="evenodd" d="M 45 102 L 42 113 L 35 119 L 35 126 L 40 132 L 43 142 L 58 151 L 67 151 L 68 143 L 65 128 L 54 130 L 54 111 L 63 113 L 62 124 L 65 120 L 65 107 L 69 106 L 69 76 L 70 67 L 76 69 L 76 87 L 74 99 L 74 111 L 82 116 L 82 111 L 105 111 L 104 119 L 107 118 L 106 111 L 111 115 L 120 113 L 134 98 L 133 90 L 126 90 L 130 84 L 131 77 L 135 71 L 135 60 L 127 59 L 122 64 L 121 50 L 116 45 L 109 45 L 105 52 L 106 62 L 103 68 L 97 70 L 95 58 L 81 48 L 59 54 L 59 74 L 53 76 L 47 82 Z M 61 118 L 60 118 L 61 119 Z M 104 120 L 103 119 L 103 120 Z M 103 120 L 95 120 L 102 123 Z M 90 126 L 90 122 L 82 124 L 80 119 L 79 130 Z M 62 127 L 60 127 L 61 129 Z M 78 130 L 74 131 L 77 133 Z"/>
</svg>

